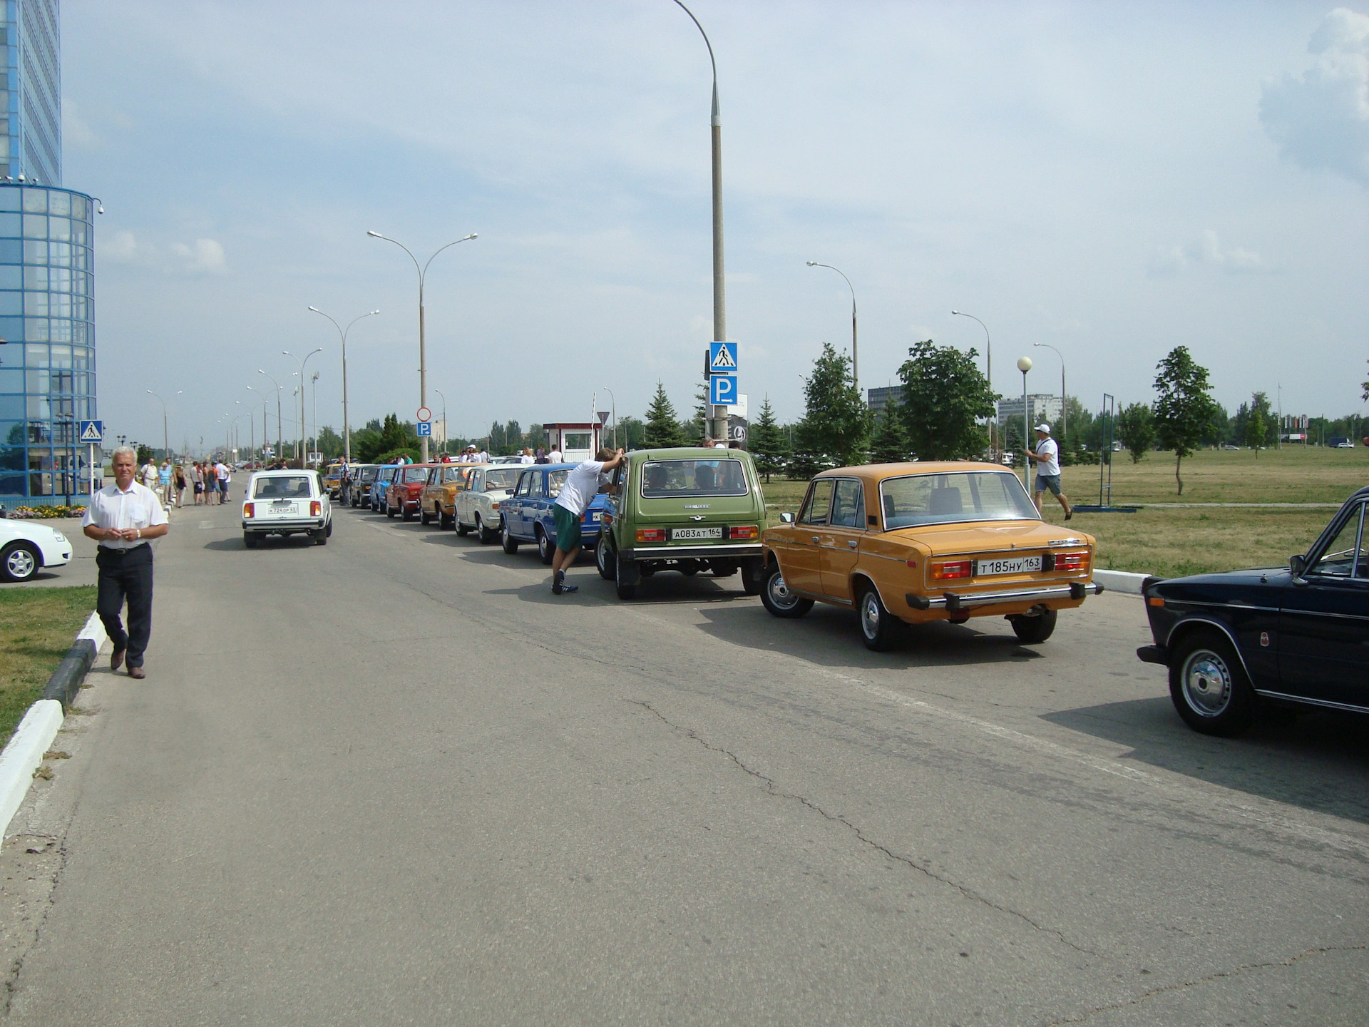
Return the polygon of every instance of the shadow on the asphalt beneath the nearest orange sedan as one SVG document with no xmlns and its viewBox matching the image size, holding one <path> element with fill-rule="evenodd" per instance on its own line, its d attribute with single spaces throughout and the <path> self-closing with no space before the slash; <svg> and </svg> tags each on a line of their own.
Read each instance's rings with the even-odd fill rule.
<svg viewBox="0 0 1369 1027">
<path fill-rule="evenodd" d="M 894 649 L 876 653 L 861 642 L 854 612 L 823 603 L 797 620 L 771 616 L 760 600 L 754 605 L 738 604 L 701 612 L 706 623 L 700 629 L 715 638 L 783 652 L 820 667 L 910 670 L 1017 663 L 1045 656 L 1020 645 L 1012 635 L 987 634 L 968 624 L 945 622 L 910 626 Z"/>
</svg>

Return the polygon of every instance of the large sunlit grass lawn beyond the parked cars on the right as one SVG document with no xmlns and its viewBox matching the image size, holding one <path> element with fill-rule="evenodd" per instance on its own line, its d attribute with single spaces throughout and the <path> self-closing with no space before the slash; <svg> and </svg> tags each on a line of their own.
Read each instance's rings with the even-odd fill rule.
<svg viewBox="0 0 1369 1027">
<path fill-rule="evenodd" d="M 1221 509 L 1144 507 L 1147 503 L 1342 503 L 1369 485 L 1369 448 L 1284 446 L 1258 455 L 1206 449 L 1183 461 L 1184 494 L 1176 494 L 1175 459 L 1147 453 L 1134 464 L 1117 453 L 1112 468 L 1113 505 L 1142 505 L 1136 514 L 1076 514 L 1069 522 L 1098 540 L 1098 567 L 1175 576 L 1235 567 L 1283 566 L 1317 537 L 1331 509 Z M 1098 503 L 1098 468 L 1062 468 L 1073 503 Z M 764 485 L 769 522 L 794 512 L 806 482 L 775 478 Z M 1054 501 L 1046 519 L 1062 524 Z"/>
</svg>

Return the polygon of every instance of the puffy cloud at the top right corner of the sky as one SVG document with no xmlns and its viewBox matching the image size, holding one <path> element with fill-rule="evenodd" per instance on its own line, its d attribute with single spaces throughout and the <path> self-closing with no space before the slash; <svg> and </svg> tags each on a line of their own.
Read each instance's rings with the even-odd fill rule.
<svg viewBox="0 0 1369 1027">
<path fill-rule="evenodd" d="M 1259 121 L 1288 160 L 1369 186 L 1369 15 L 1338 7 L 1307 52 L 1302 75 L 1265 82 Z"/>
</svg>

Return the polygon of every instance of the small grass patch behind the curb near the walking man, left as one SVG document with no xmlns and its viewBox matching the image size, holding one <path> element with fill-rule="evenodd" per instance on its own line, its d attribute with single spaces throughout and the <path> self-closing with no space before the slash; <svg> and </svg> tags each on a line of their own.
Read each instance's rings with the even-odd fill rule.
<svg viewBox="0 0 1369 1027">
<path fill-rule="evenodd" d="M 96 589 L 0 590 L 0 745 L 62 663 L 94 609 Z"/>
</svg>

